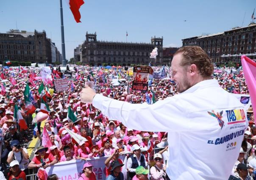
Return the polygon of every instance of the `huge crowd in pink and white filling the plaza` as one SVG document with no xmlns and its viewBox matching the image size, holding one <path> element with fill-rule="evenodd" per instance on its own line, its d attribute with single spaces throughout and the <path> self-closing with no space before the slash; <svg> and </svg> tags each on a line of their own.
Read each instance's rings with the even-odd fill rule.
<svg viewBox="0 0 256 180">
<path fill-rule="evenodd" d="M 167 132 L 145 132 L 125 127 L 119 120 L 111 120 L 96 109 L 92 104 L 81 102 L 80 92 L 86 85 L 95 89 L 96 93 L 127 101 L 132 104 L 147 103 L 149 95 L 152 103 L 163 100 L 177 94 L 176 85 L 170 78 L 153 79 L 145 92 L 134 91 L 132 87 L 132 69 L 104 69 L 101 67 L 72 66 L 69 67 L 74 80 L 69 82 L 69 90 L 58 92 L 54 86 L 54 79 L 63 78 L 65 74 L 60 68 L 51 68 L 52 81 L 44 81 L 40 78 L 40 68 L 9 68 L 1 72 L 1 95 L 0 95 L 0 133 L 2 142 L 1 164 L 9 169 L 6 178 L 11 180 L 26 179 L 28 168 L 47 168 L 62 161 L 74 159 L 86 160 L 87 158 L 108 156 L 105 161 L 106 179 L 123 180 L 122 167 L 124 162 L 120 155 L 127 155 L 127 178 L 132 180 L 145 180 L 150 174 L 151 180 L 168 180 L 166 164 L 168 161 Z M 159 71 L 161 67 L 153 67 Z M 169 67 L 167 74 L 171 76 Z M 42 75 L 42 74 L 41 74 Z M 105 77 L 104 83 L 99 82 L 100 77 Z M 64 77 L 65 78 L 65 77 Z M 214 68 L 214 79 L 219 81 L 220 86 L 230 93 L 249 94 L 241 68 Z M 112 85 L 113 79 L 125 79 L 126 85 Z M 44 83 L 45 96 L 39 93 L 39 87 Z M 35 102 L 35 111 L 29 113 L 26 100 L 23 95 L 26 85 L 29 85 L 31 95 Z M 43 122 L 36 122 L 42 99 L 45 98 L 49 106 L 49 116 L 43 122 L 52 143 L 51 147 L 39 145 L 34 157 L 29 160 L 28 150 L 22 147 L 25 134 L 29 128 L 38 127 L 34 138 L 42 141 Z M 17 121 L 15 106 L 19 108 L 25 127 L 20 128 Z M 75 120 L 68 116 L 69 108 L 75 115 Z M 185 108 L 185 107 L 184 107 Z M 231 172 L 231 178 L 242 180 L 252 179 L 256 172 L 256 127 L 254 124 L 253 111 L 248 109 L 249 126 L 245 131 L 244 141 L 237 158 L 237 163 Z M 22 125 L 24 127 L 24 125 Z M 57 131 L 55 131 L 55 127 Z M 77 143 L 69 136 L 69 129 L 87 139 Z M 41 142 L 42 143 L 42 142 Z M 150 145 L 150 148 L 148 147 Z M 151 152 L 149 151 L 151 149 Z M 157 149 L 154 151 L 154 149 Z M 9 167 L 9 168 L 8 168 Z M 93 164 L 86 162 L 83 165 L 79 180 L 96 180 L 93 172 Z M 149 169 L 150 168 L 150 169 Z M 3 168 L 5 169 L 5 168 Z M 0 172 L 1 173 L 1 172 Z M 5 178 L 3 175 L 1 179 Z M 48 179 L 56 178 L 50 175 Z"/>
</svg>

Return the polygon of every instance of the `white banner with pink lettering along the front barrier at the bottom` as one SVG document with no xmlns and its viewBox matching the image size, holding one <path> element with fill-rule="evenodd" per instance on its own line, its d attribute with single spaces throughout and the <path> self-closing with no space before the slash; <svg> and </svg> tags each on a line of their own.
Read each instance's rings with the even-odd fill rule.
<svg viewBox="0 0 256 180">
<path fill-rule="evenodd" d="M 96 179 L 106 180 L 106 166 L 104 162 L 108 157 L 109 156 L 90 158 L 86 161 L 77 159 L 59 162 L 57 164 L 54 164 L 53 166 L 47 167 L 45 171 L 47 172 L 47 175 L 56 174 L 59 180 L 78 180 L 78 178 L 82 174 L 83 164 L 89 162 L 93 165 L 93 172 L 95 172 Z M 121 155 L 119 156 L 119 158 L 124 161 L 125 156 Z M 123 168 L 122 172 L 126 176 L 125 170 L 126 168 Z"/>
</svg>

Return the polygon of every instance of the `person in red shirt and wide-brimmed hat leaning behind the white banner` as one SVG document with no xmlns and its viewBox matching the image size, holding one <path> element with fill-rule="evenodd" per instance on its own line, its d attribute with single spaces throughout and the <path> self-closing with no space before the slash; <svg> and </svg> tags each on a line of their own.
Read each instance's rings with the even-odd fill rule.
<svg viewBox="0 0 256 180">
<path fill-rule="evenodd" d="M 56 158 L 51 153 L 46 153 L 48 147 L 39 146 L 35 152 L 35 156 L 28 164 L 28 168 L 43 167 L 44 169 L 57 163 Z"/>
</svg>

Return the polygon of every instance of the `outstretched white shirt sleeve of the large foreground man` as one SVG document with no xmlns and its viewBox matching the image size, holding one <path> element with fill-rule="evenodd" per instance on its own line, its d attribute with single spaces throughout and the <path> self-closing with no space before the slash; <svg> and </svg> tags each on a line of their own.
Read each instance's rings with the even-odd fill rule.
<svg viewBox="0 0 256 180">
<path fill-rule="evenodd" d="M 141 131 L 179 131 L 187 127 L 184 106 L 179 98 L 166 98 L 155 104 L 130 104 L 96 94 L 92 104 L 109 119 Z"/>
</svg>

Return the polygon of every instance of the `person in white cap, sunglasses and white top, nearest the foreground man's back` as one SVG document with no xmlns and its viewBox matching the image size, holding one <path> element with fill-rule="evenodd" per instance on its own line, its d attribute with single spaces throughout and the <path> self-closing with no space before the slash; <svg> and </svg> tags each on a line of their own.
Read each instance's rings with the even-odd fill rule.
<svg viewBox="0 0 256 180">
<path fill-rule="evenodd" d="M 154 154 L 155 165 L 150 168 L 151 180 L 170 180 L 165 172 L 166 165 L 162 163 L 162 159 L 160 153 Z"/>
</svg>

